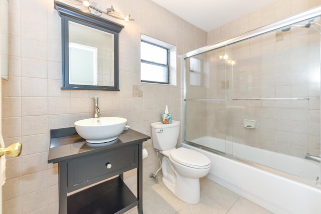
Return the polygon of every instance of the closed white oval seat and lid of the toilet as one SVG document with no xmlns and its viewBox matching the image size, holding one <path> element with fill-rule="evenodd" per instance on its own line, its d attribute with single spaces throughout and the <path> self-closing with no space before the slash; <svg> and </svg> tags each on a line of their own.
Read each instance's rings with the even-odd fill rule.
<svg viewBox="0 0 321 214">
<path fill-rule="evenodd" d="M 170 152 L 171 158 L 188 167 L 206 169 L 211 167 L 211 160 L 204 154 L 188 148 L 178 148 Z"/>
</svg>

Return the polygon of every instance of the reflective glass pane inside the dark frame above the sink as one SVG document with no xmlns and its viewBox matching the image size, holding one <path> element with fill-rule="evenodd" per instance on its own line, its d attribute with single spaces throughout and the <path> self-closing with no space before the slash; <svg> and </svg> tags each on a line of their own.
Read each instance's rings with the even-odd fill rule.
<svg viewBox="0 0 321 214">
<path fill-rule="evenodd" d="M 114 35 L 69 21 L 69 83 L 114 85 Z"/>
</svg>

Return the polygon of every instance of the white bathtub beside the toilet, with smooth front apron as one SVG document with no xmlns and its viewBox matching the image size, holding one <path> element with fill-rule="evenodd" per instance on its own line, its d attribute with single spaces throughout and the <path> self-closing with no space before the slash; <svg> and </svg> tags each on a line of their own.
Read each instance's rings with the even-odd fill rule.
<svg viewBox="0 0 321 214">
<path fill-rule="evenodd" d="M 183 143 L 183 147 L 197 150 L 211 159 L 212 167 L 207 175 L 209 179 L 273 213 L 321 213 L 321 186 L 300 178 L 316 180 L 317 176 L 321 177 L 319 163 L 238 143 L 228 142 L 225 146 L 224 140 L 208 136 L 193 142 L 196 141 L 206 147 L 216 141 L 216 147 L 221 151 L 233 149 L 235 156 L 252 161 Z M 286 162 L 292 163 L 292 166 L 288 167 Z M 270 167 L 261 164 L 270 164 Z M 277 167 L 288 173 L 273 169 Z"/>
</svg>

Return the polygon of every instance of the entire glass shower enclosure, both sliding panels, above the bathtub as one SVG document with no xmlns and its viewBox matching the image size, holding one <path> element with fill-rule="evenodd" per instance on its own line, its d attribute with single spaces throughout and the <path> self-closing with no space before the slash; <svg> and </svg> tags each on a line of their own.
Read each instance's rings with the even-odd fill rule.
<svg viewBox="0 0 321 214">
<path fill-rule="evenodd" d="M 185 140 L 319 182 L 320 18 L 185 59 Z"/>
</svg>

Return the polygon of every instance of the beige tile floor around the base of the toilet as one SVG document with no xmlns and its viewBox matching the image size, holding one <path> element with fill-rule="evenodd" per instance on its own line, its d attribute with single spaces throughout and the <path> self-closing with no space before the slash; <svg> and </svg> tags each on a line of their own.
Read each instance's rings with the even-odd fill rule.
<svg viewBox="0 0 321 214">
<path fill-rule="evenodd" d="M 143 184 L 143 212 L 144 214 L 271 213 L 206 177 L 201 178 L 200 186 L 201 201 L 198 204 L 189 204 L 172 194 L 163 181 L 149 180 Z M 126 212 L 126 214 L 136 213 L 136 207 Z"/>
</svg>

